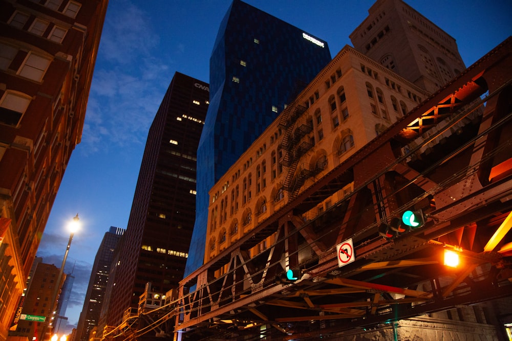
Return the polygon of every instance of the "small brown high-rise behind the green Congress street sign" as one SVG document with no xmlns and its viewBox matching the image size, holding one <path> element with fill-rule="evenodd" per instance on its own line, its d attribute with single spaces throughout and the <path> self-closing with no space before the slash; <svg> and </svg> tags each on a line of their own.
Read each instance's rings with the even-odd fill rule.
<svg viewBox="0 0 512 341">
<path fill-rule="evenodd" d="M 23 312 L 15 331 L 10 331 L 12 336 L 26 336 L 30 340 L 36 337 L 41 340 L 45 333 L 44 322 L 52 306 L 53 295 L 60 268 L 53 264 L 38 262 L 34 275 L 30 280 L 30 288 L 24 297 Z M 28 317 L 24 317 L 29 315 Z M 41 321 L 42 320 L 42 321 Z"/>
</svg>

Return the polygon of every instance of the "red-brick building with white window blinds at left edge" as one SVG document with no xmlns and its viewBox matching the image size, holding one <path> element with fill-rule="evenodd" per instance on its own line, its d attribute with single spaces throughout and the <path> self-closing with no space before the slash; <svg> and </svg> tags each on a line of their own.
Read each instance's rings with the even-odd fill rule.
<svg viewBox="0 0 512 341">
<path fill-rule="evenodd" d="M 0 3 L 0 341 L 80 142 L 107 3 Z"/>
</svg>

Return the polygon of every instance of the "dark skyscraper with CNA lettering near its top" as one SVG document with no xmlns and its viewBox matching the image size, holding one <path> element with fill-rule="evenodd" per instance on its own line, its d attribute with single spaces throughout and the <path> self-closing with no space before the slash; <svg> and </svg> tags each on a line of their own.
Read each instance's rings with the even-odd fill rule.
<svg viewBox="0 0 512 341">
<path fill-rule="evenodd" d="M 208 84 L 175 73 L 147 135 L 132 211 L 112 271 L 106 325 L 137 312 L 147 282 L 165 293 L 183 278 L 195 220 L 196 153 Z"/>
</svg>

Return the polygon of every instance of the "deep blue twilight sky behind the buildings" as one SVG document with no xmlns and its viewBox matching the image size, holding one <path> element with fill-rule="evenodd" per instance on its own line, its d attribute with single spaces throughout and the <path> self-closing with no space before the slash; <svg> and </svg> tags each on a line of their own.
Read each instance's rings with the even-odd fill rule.
<svg viewBox="0 0 512 341">
<path fill-rule="evenodd" d="M 335 56 L 374 0 L 246 0 L 328 42 Z M 512 34 L 510 0 L 407 1 L 452 35 L 466 66 Z M 110 0 L 81 143 L 60 185 L 37 256 L 76 276 L 67 310 L 76 326 L 103 235 L 126 228 L 147 131 L 176 71 L 209 81 L 209 57 L 231 0 Z M 191 208 L 193 209 L 193 208 Z M 71 326 L 73 325 L 73 326 Z"/>
</svg>

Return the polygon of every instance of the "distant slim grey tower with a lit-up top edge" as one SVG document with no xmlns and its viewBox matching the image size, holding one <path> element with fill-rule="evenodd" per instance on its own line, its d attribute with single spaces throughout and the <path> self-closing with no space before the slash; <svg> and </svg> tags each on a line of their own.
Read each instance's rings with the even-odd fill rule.
<svg viewBox="0 0 512 341">
<path fill-rule="evenodd" d="M 91 329 L 98 324 L 114 251 L 124 231 L 124 229 L 110 226 L 109 231 L 105 232 L 99 245 L 94 258 L 86 297 L 83 301 L 82 312 L 78 320 L 76 332 L 78 340 L 88 341 Z"/>
</svg>

